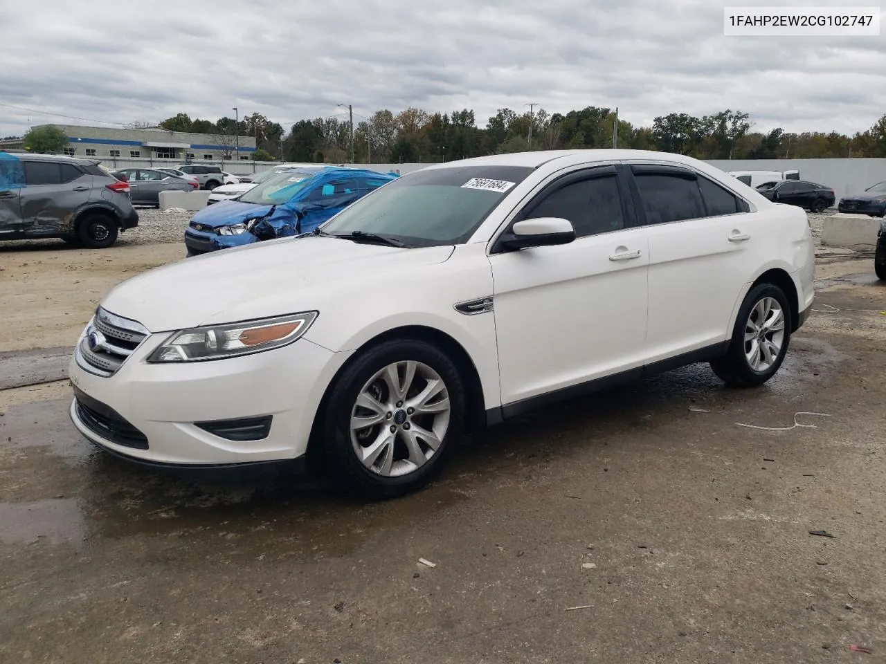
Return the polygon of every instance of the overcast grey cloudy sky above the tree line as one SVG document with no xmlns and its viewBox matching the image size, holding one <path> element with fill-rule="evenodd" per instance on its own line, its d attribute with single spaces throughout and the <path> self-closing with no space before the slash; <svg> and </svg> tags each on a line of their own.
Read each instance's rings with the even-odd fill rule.
<svg viewBox="0 0 886 664">
<path fill-rule="evenodd" d="M 849 134 L 886 113 L 886 33 L 726 37 L 725 4 L 812 0 L 6 0 L 0 136 L 233 106 L 284 126 L 336 104 L 355 122 L 467 107 L 481 126 L 529 102 L 634 124 L 732 108 L 760 130 Z"/>
</svg>

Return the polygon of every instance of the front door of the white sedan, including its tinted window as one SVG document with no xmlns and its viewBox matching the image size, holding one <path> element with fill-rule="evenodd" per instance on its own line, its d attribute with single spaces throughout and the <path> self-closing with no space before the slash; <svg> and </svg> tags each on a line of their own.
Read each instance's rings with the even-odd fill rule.
<svg viewBox="0 0 886 664">
<path fill-rule="evenodd" d="M 649 251 L 627 191 L 615 166 L 563 175 L 515 222 L 567 219 L 575 241 L 493 249 L 502 405 L 642 366 Z"/>
</svg>

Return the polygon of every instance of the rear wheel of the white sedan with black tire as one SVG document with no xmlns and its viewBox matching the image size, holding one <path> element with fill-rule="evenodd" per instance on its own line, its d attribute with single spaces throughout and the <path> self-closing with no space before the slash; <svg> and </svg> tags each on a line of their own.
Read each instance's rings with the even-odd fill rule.
<svg viewBox="0 0 886 664">
<path fill-rule="evenodd" d="M 773 313 L 775 307 L 781 310 L 781 315 Z M 761 317 L 771 321 L 766 330 L 758 326 L 758 320 Z M 781 324 L 779 324 L 779 320 L 781 320 Z M 714 374 L 717 374 L 730 387 L 743 388 L 762 385 L 772 378 L 781 367 L 781 362 L 788 352 L 792 323 L 788 297 L 785 296 L 784 291 L 772 283 L 759 283 L 754 286 L 744 298 L 742 307 L 739 309 L 727 354 L 711 361 L 711 369 Z M 746 331 L 749 335 L 757 336 L 750 336 L 746 340 Z M 773 344 L 777 348 L 777 352 L 772 354 L 773 345 L 761 348 L 761 339 Z M 759 363 L 752 363 L 749 359 L 749 354 L 755 349 L 754 342 L 757 342 L 757 351 L 750 357 L 760 360 Z M 764 349 L 770 349 L 768 357 Z"/>
</svg>

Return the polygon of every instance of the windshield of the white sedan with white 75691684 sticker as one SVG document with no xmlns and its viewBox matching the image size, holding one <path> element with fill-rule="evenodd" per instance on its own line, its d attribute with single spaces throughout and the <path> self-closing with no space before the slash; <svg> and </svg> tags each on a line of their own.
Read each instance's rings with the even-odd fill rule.
<svg viewBox="0 0 886 664">
<path fill-rule="evenodd" d="M 400 240 L 409 247 L 467 242 L 527 166 L 456 166 L 416 171 L 393 180 L 323 226 L 331 235 L 354 231 Z"/>
</svg>

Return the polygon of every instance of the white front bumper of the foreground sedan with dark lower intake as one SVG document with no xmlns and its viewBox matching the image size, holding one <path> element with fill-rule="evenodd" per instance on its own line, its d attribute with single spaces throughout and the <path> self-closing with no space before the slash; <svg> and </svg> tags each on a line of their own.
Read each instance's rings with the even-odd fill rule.
<svg viewBox="0 0 886 664">
<path fill-rule="evenodd" d="M 187 364 L 148 364 L 168 334 L 149 336 L 108 377 L 72 358 L 71 420 L 118 456 L 163 467 L 226 467 L 298 459 L 326 386 L 349 353 L 307 339 L 274 351 Z M 207 423 L 268 418 L 260 439 L 232 439 Z M 242 437 L 242 436 L 240 436 Z M 253 438 L 255 436 L 252 436 Z"/>
</svg>

